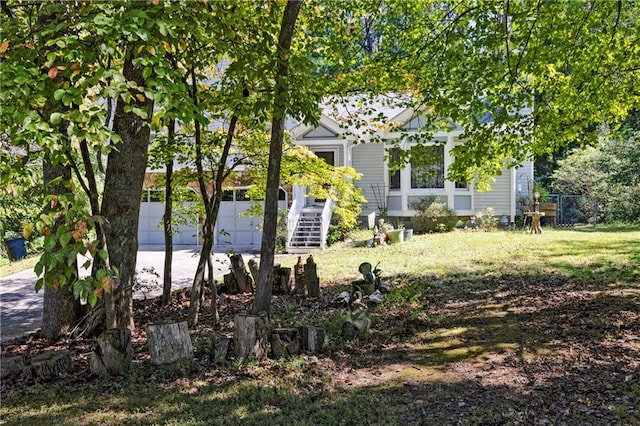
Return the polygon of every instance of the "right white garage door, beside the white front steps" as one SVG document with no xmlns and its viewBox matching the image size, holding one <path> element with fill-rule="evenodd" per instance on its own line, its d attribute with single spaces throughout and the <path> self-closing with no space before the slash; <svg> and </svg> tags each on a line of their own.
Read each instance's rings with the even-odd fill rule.
<svg viewBox="0 0 640 426">
<path fill-rule="evenodd" d="M 286 193 L 281 189 L 278 205 L 287 207 Z M 218 223 L 216 225 L 216 244 L 259 245 L 262 242 L 262 217 L 245 217 L 250 202 L 246 189 L 227 190 L 222 196 Z"/>
</svg>

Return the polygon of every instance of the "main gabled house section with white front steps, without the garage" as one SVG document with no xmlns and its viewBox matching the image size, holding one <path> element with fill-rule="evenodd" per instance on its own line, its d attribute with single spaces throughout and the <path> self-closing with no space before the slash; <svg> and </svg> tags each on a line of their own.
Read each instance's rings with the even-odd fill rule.
<svg viewBox="0 0 640 426">
<path fill-rule="evenodd" d="M 368 200 L 363 206 L 364 215 L 383 212 L 388 218 L 409 219 L 416 214 L 412 208 L 414 202 L 426 196 L 437 196 L 459 216 L 472 216 L 493 208 L 496 215 L 506 216 L 510 222 L 515 220 L 517 200 L 530 193 L 532 161 L 519 168 L 503 168 L 490 191 L 479 192 L 466 182 L 448 181 L 445 175 L 453 161 L 451 149 L 464 144 L 463 129 L 453 125 L 450 130 L 435 133 L 431 139 L 431 150 L 441 160 L 430 166 L 430 174 L 425 176 L 420 173 L 420 167 L 412 164 L 394 171 L 388 164 L 388 155 L 394 152 L 393 141 L 400 140 L 401 146 L 408 148 L 411 144 L 408 136 L 417 132 L 423 122 L 420 114 L 402 105 L 369 103 L 364 114 L 375 116 L 373 123 L 367 124 L 365 119 L 356 125 L 346 125 L 345 118 L 352 118 L 357 109 L 354 106 L 325 107 L 317 126 L 299 124 L 291 129 L 291 138 L 295 144 L 307 146 L 329 164 L 351 166 L 362 174 L 361 180 L 355 183 Z M 393 126 L 385 126 L 385 121 Z M 318 203 L 305 197 L 304 188 L 294 187 L 289 211 L 289 251 L 324 247 L 327 220 L 330 219 L 328 203 L 330 201 Z M 313 223 L 316 223 L 313 232 L 317 238 L 309 238 L 308 231 L 305 236 L 304 232 L 296 230 L 297 227 L 309 230 Z"/>
</svg>

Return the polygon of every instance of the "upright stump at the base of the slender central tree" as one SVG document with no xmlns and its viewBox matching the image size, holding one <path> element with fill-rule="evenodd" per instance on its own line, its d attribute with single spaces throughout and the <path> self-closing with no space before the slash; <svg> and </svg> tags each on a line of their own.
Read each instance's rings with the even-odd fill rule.
<svg viewBox="0 0 640 426">
<path fill-rule="evenodd" d="M 266 315 L 237 315 L 233 335 L 236 358 L 265 359 L 270 346 L 269 328 Z"/>
</svg>

